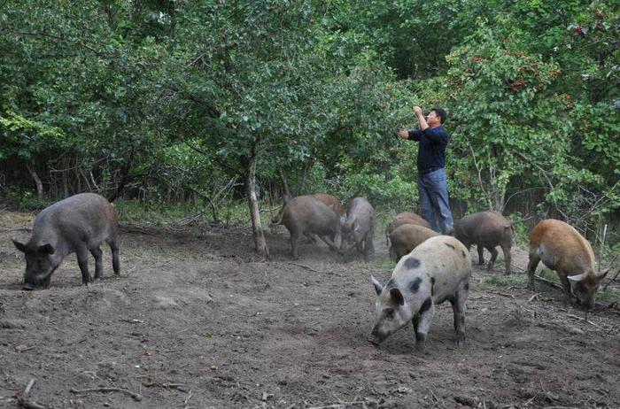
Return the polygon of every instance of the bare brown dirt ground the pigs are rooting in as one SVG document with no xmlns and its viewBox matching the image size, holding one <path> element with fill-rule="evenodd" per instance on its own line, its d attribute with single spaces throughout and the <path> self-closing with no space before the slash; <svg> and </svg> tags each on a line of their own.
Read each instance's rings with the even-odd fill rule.
<svg viewBox="0 0 620 409">
<path fill-rule="evenodd" d="M 124 228 L 119 277 L 105 247 L 102 281 L 82 286 L 72 255 L 50 289 L 27 292 L 10 239 L 31 220 L 0 214 L 0 407 L 620 407 L 617 305 L 586 321 L 559 291 L 526 289 L 522 250 L 514 284 L 489 280 L 501 264 L 475 266 L 467 344 L 453 343 L 446 303 L 420 355 L 413 328 L 366 340 L 369 276 L 393 267 L 379 234 L 364 263 L 322 243 L 293 260 L 280 230 L 264 261 L 250 228 Z"/>
</svg>

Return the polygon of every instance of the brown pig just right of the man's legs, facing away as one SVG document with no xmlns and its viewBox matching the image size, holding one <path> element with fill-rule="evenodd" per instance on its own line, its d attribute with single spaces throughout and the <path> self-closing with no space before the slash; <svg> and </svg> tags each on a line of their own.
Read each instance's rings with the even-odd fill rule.
<svg viewBox="0 0 620 409">
<path fill-rule="evenodd" d="M 504 264 L 506 274 L 510 274 L 510 249 L 512 248 L 512 222 L 498 212 L 477 212 L 465 216 L 461 220 L 455 220 L 453 234 L 468 249 L 476 244 L 478 251 L 478 264 L 484 264 L 484 248 L 491 252 L 491 259 L 486 266 L 491 270 L 497 259 L 497 246 L 504 252 Z"/>
</svg>

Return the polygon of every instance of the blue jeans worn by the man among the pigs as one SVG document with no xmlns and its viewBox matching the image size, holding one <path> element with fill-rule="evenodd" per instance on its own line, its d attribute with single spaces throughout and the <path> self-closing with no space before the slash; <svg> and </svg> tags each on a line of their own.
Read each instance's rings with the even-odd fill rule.
<svg viewBox="0 0 620 409">
<path fill-rule="evenodd" d="M 448 202 L 446 169 L 418 175 L 420 211 L 430 228 L 438 233 L 450 235 L 453 229 L 452 212 Z"/>
</svg>

